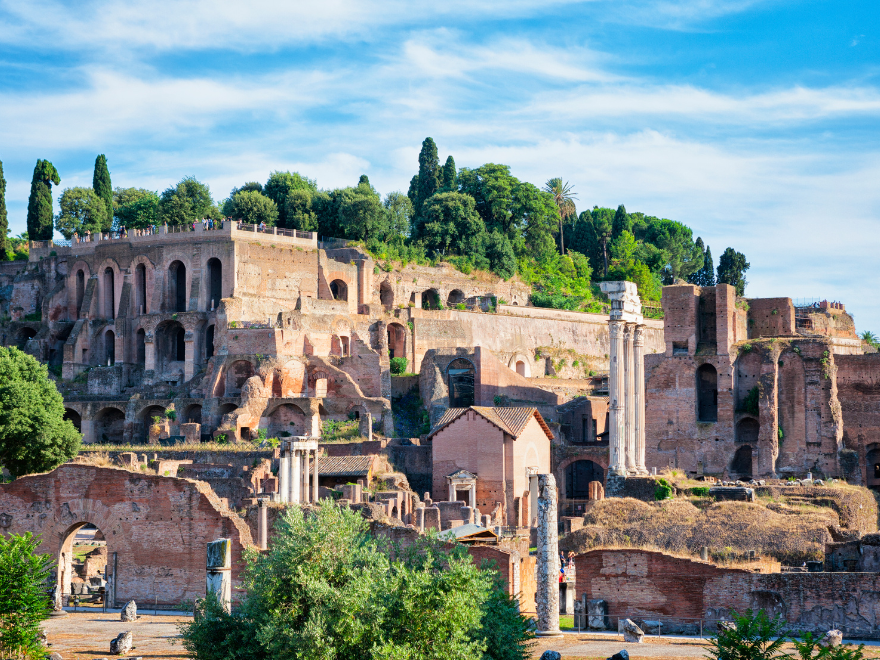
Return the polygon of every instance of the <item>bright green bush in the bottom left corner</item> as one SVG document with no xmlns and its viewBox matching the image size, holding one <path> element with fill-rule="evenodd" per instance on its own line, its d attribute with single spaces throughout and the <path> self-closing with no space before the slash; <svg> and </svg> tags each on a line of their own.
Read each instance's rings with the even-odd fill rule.
<svg viewBox="0 0 880 660">
<path fill-rule="evenodd" d="M 43 660 L 40 621 L 49 617 L 46 593 L 52 558 L 37 554 L 38 537 L 0 534 L 0 656 Z"/>
</svg>

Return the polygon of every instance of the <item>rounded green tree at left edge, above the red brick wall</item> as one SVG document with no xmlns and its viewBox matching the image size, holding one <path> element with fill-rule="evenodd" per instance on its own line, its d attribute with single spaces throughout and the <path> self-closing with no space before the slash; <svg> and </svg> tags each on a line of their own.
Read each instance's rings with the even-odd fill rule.
<svg viewBox="0 0 880 660">
<path fill-rule="evenodd" d="M 0 465 L 16 478 L 48 472 L 76 456 L 81 439 L 46 366 L 0 347 Z"/>
</svg>

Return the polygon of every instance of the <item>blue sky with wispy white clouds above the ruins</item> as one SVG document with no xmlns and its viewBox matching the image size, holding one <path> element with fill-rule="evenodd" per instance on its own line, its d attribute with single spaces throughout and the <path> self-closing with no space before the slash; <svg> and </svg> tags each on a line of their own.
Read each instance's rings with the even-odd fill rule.
<svg viewBox="0 0 880 660">
<path fill-rule="evenodd" d="M 117 186 L 385 193 L 430 135 L 579 209 L 684 222 L 746 254 L 748 296 L 841 300 L 880 334 L 878 28 L 876 0 L 0 0 L 10 225 L 37 158 L 61 189 L 105 153 Z"/>
</svg>

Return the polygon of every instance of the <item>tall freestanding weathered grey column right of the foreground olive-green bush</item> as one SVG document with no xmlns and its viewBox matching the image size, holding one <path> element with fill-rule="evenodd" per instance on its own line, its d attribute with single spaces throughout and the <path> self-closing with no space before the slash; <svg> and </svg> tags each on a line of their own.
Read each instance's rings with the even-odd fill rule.
<svg viewBox="0 0 880 660">
<path fill-rule="evenodd" d="M 538 475 L 538 553 L 535 603 L 539 637 L 559 630 L 559 530 L 556 527 L 556 478 Z"/>
</svg>

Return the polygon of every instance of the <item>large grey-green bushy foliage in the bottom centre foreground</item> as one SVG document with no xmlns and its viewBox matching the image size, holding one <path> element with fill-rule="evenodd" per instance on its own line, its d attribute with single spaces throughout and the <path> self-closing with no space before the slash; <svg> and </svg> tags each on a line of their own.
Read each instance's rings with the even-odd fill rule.
<svg viewBox="0 0 880 660">
<path fill-rule="evenodd" d="M 526 620 L 494 571 L 462 546 L 421 538 L 402 550 L 359 513 L 290 507 L 266 554 L 251 553 L 231 614 L 213 597 L 181 627 L 200 660 L 314 658 L 524 660 Z"/>
</svg>

